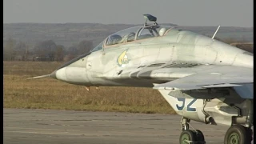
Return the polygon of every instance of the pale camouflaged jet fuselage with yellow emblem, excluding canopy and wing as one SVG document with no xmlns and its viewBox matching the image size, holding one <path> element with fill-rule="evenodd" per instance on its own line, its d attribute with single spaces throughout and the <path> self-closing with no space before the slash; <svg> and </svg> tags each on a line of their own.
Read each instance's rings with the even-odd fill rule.
<svg viewBox="0 0 256 144">
<path fill-rule="evenodd" d="M 83 86 L 142 86 L 170 82 L 194 74 L 194 66 L 226 65 L 253 68 L 253 54 L 218 40 L 170 28 L 162 36 L 90 51 L 51 74 L 58 80 Z M 102 46 L 102 47 L 101 47 Z M 182 69 L 190 67 L 190 70 Z M 170 68 L 172 74 L 158 73 Z"/>
</svg>

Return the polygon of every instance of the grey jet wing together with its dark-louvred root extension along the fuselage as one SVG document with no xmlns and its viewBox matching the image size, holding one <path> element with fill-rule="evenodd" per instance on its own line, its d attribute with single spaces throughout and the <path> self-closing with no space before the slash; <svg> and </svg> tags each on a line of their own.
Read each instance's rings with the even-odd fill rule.
<svg viewBox="0 0 256 144">
<path fill-rule="evenodd" d="M 218 65 L 186 66 L 155 68 L 146 66 L 142 70 L 130 74 L 130 77 L 165 79 L 166 83 L 154 86 L 154 89 L 158 90 L 186 91 L 232 87 L 242 98 L 254 97 L 253 68 Z"/>
</svg>

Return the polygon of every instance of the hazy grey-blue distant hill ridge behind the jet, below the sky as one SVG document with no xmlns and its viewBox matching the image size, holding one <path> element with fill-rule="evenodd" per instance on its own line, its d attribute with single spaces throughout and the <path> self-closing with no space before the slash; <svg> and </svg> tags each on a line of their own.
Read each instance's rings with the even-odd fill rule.
<svg viewBox="0 0 256 144">
<path fill-rule="evenodd" d="M 212 36 L 217 26 L 177 26 L 174 24 L 163 24 L 176 26 L 183 30 L 191 30 L 198 34 Z M 3 41 L 7 38 L 14 38 L 17 42 L 26 42 L 34 46 L 36 42 L 53 40 L 63 46 L 72 46 L 82 40 L 90 40 L 94 46 L 102 42 L 108 35 L 118 30 L 123 30 L 131 26 L 128 24 L 100 24 L 100 23 L 65 23 L 65 24 L 45 24 L 45 23 L 10 23 L 3 24 Z M 253 42 L 253 28 L 243 27 L 221 27 L 216 37 L 233 38 L 238 41 Z"/>
</svg>

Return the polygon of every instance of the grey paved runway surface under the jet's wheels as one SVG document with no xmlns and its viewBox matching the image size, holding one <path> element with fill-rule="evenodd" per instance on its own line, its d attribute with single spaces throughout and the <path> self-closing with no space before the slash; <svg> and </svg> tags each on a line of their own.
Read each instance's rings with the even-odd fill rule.
<svg viewBox="0 0 256 144">
<path fill-rule="evenodd" d="M 181 116 L 70 110 L 3 110 L 4 144 L 178 143 Z M 223 143 L 228 126 L 190 122 L 207 143 Z"/>
</svg>

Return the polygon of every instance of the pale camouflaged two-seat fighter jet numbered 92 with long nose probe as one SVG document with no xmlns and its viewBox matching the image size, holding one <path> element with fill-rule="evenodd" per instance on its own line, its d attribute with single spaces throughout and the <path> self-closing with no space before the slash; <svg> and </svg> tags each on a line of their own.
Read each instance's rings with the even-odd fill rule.
<svg viewBox="0 0 256 144">
<path fill-rule="evenodd" d="M 252 140 L 253 54 L 201 34 L 146 22 L 111 34 L 51 77 L 86 86 L 140 86 L 159 90 L 182 116 L 179 142 L 205 143 L 190 120 L 226 125 L 224 143 Z M 219 28 L 219 27 L 218 27 Z"/>
</svg>

